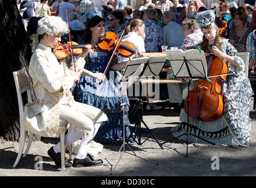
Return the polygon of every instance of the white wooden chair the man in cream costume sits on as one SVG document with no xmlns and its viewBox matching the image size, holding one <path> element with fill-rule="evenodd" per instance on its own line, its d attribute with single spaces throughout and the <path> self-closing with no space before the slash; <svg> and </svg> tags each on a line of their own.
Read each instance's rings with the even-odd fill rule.
<svg viewBox="0 0 256 188">
<path fill-rule="evenodd" d="M 25 68 L 22 68 L 21 70 L 13 72 L 14 80 L 15 80 L 15 86 L 16 86 L 16 92 L 18 97 L 18 103 L 19 103 L 19 120 L 20 120 L 20 135 L 19 135 L 19 152 L 18 156 L 15 160 L 15 163 L 13 167 L 16 167 L 16 165 L 19 162 L 19 159 L 21 159 L 21 155 L 24 151 L 25 146 L 25 140 L 26 140 L 26 133 L 28 133 L 28 145 L 26 146 L 26 150 L 24 152 L 23 157 L 25 157 L 28 154 L 29 148 L 31 147 L 32 140 L 34 133 L 31 132 L 31 130 L 26 129 L 24 126 L 24 103 L 22 101 L 22 93 L 26 92 L 26 95 L 28 96 L 28 102 L 32 102 L 31 98 L 31 90 L 29 89 L 28 85 L 28 75 Z M 68 127 L 68 122 L 65 120 L 61 120 L 59 123 L 59 137 L 61 142 L 61 171 L 65 170 L 65 130 Z M 71 156 L 70 156 L 71 154 Z M 69 151 L 69 159 L 72 159 L 72 151 Z"/>
</svg>

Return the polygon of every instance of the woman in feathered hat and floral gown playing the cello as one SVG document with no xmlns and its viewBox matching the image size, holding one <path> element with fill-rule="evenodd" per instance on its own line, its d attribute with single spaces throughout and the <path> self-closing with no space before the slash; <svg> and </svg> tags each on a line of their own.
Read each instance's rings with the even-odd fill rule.
<svg viewBox="0 0 256 188">
<path fill-rule="evenodd" d="M 222 116 L 217 120 L 202 122 L 198 135 L 217 145 L 248 146 L 251 140 L 249 113 L 252 89 L 250 80 L 244 72 L 244 62 L 238 57 L 237 50 L 227 39 L 219 37 L 217 45 L 210 48 L 218 35 L 218 27 L 214 23 L 214 19 L 215 15 L 211 10 L 200 12 L 197 16 L 197 22 L 204 33 L 201 43 L 202 51 L 224 59 L 228 65 L 227 80 L 221 88 L 221 93 L 224 96 L 224 110 Z M 192 89 L 192 87 L 189 89 Z M 184 91 L 185 99 L 187 89 L 184 89 Z M 180 135 L 187 126 L 187 114 L 184 109 L 181 110 L 180 120 L 182 122 L 181 127 L 172 129 L 174 136 Z M 189 128 L 191 131 L 197 133 L 198 127 L 198 121 L 190 117 Z M 194 136 L 189 136 L 189 140 L 192 142 L 195 139 Z M 205 143 L 200 139 L 198 139 L 198 142 Z"/>
</svg>

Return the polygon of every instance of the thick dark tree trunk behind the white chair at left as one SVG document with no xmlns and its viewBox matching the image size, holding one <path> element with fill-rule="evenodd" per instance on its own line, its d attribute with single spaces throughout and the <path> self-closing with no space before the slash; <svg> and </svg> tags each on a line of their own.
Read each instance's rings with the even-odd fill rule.
<svg viewBox="0 0 256 188">
<path fill-rule="evenodd" d="M 15 0 L 0 0 L 0 137 L 18 140 L 19 108 L 12 72 L 31 58 L 31 46 Z"/>
</svg>

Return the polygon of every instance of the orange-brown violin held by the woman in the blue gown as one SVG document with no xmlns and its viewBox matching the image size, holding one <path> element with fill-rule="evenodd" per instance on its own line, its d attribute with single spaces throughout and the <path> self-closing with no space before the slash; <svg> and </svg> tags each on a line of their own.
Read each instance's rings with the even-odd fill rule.
<svg viewBox="0 0 256 188">
<path fill-rule="evenodd" d="M 114 32 L 108 31 L 105 33 L 105 38 L 100 40 L 98 43 L 101 51 L 114 52 L 117 47 L 117 52 L 124 58 L 128 58 L 135 53 L 135 45 L 127 41 L 119 41 L 119 37 Z M 118 46 L 117 46 L 118 45 Z"/>
</svg>

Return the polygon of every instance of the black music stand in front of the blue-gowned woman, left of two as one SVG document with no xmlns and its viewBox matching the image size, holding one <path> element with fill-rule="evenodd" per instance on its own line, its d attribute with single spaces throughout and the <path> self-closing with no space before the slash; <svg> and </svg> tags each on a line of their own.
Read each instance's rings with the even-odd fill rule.
<svg viewBox="0 0 256 188">
<path fill-rule="evenodd" d="M 136 70 L 135 71 L 135 76 L 137 77 L 136 80 L 139 80 L 139 98 L 137 99 L 137 102 L 135 103 L 134 108 L 131 110 L 131 113 L 134 113 L 138 110 L 138 119 L 137 119 L 137 122 L 135 123 L 134 127 L 132 128 L 131 135 L 128 137 L 127 140 L 133 139 L 134 142 L 136 142 L 138 145 L 142 145 L 144 142 L 146 142 L 149 139 L 149 137 L 152 136 L 155 139 L 155 141 L 158 143 L 158 145 L 161 147 L 161 149 L 164 149 L 164 147 L 162 147 L 161 143 L 159 143 L 159 141 L 157 140 L 155 135 L 152 133 L 152 131 L 147 126 L 147 123 L 145 123 L 143 120 L 143 102 L 142 102 L 141 80 L 147 79 L 149 76 L 151 76 L 151 77 L 158 76 L 159 73 L 161 72 L 162 68 L 165 65 L 166 57 L 165 56 L 157 56 L 157 57 L 146 58 L 147 61 L 145 61 L 145 58 L 142 58 L 141 60 L 142 60 L 142 63 L 140 62 L 139 58 L 132 59 L 132 61 L 134 61 L 134 62 L 131 62 L 131 64 L 128 63 L 128 65 L 125 69 L 125 70 L 127 70 L 127 72 L 132 72 L 131 70 L 128 70 L 129 66 L 130 66 L 131 69 Z M 139 65 L 140 67 L 137 69 L 135 65 L 137 65 L 137 66 Z M 134 67 L 132 67 L 132 66 L 134 66 Z M 123 75 L 124 76 L 123 76 L 122 80 L 125 80 L 128 78 L 128 75 L 125 75 L 125 74 L 123 74 Z M 133 73 L 130 75 L 133 75 Z M 143 125 L 146 127 L 146 129 L 150 133 L 150 135 L 147 137 L 147 139 L 144 140 L 144 142 L 141 142 L 141 123 L 143 123 Z M 138 141 L 136 140 L 136 137 L 138 137 Z"/>
</svg>

